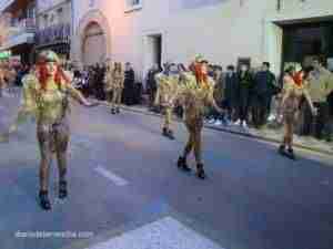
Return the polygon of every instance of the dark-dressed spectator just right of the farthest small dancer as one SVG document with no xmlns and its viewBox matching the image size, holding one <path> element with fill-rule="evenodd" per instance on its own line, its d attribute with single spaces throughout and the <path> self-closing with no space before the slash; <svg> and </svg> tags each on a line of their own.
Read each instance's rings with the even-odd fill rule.
<svg viewBox="0 0 333 249">
<path fill-rule="evenodd" d="M 125 71 L 124 71 L 124 89 L 123 89 L 123 103 L 125 105 L 133 105 L 134 104 L 134 70 L 130 62 L 125 63 Z"/>
</svg>

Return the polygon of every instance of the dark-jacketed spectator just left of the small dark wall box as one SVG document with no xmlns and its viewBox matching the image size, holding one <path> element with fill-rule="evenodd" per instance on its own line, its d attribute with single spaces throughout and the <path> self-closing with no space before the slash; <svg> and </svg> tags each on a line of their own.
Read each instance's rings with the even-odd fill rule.
<svg viewBox="0 0 333 249">
<path fill-rule="evenodd" d="M 228 112 L 229 121 L 234 121 L 239 102 L 239 81 L 233 65 L 229 65 L 226 70 L 223 107 Z"/>
</svg>

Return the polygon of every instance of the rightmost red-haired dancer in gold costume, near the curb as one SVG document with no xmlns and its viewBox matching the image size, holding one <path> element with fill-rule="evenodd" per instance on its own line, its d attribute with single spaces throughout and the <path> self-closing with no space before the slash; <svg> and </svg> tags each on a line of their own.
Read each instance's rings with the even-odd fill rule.
<svg viewBox="0 0 333 249">
<path fill-rule="evenodd" d="M 283 90 L 282 90 L 282 102 L 280 112 L 282 112 L 282 123 L 284 127 L 284 135 L 282 144 L 279 147 L 279 153 L 281 155 L 287 156 L 291 159 L 295 159 L 294 151 L 293 151 L 293 134 L 294 126 L 297 122 L 297 114 L 300 110 L 300 102 L 302 96 L 307 101 L 313 115 L 316 115 L 316 108 L 314 107 L 310 94 L 304 87 L 305 84 L 296 84 L 294 82 L 294 73 L 295 70 L 293 66 L 285 71 L 285 75 L 283 77 Z M 307 81 L 310 72 L 304 73 L 303 81 Z M 285 148 L 287 147 L 287 151 Z"/>
</svg>

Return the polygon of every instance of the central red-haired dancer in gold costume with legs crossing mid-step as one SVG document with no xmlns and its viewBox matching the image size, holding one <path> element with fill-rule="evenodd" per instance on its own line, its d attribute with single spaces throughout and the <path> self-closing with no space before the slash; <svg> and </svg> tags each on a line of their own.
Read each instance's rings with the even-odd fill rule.
<svg viewBox="0 0 333 249">
<path fill-rule="evenodd" d="M 199 61 L 200 60 L 200 61 Z M 192 72 L 181 72 L 181 86 L 179 97 L 184 107 L 184 123 L 189 132 L 189 139 L 183 154 L 178 159 L 178 167 L 185 172 L 191 168 L 186 164 L 189 154 L 193 151 L 196 162 L 196 176 L 205 178 L 202 162 L 202 141 L 201 132 L 203 128 L 203 117 L 205 106 L 212 106 L 219 113 L 223 111 L 215 103 L 214 81 L 208 76 L 208 62 L 196 59 L 190 66 Z"/>
</svg>

